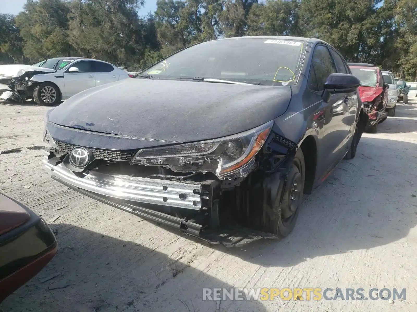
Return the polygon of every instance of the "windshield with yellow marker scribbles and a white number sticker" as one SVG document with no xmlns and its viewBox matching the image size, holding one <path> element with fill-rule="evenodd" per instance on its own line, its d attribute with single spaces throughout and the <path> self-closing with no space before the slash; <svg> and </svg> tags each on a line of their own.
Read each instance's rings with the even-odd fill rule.
<svg viewBox="0 0 417 312">
<path fill-rule="evenodd" d="M 142 74 L 157 79 L 205 78 L 266 85 L 294 84 L 303 41 L 239 38 L 189 47 Z"/>
</svg>

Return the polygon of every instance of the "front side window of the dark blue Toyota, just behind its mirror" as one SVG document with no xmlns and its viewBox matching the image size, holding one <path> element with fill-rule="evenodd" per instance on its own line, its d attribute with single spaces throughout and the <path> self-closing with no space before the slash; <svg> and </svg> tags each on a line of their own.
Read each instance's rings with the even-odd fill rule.
<svg viewBox="0 0 417 312">
<path fill-rule="evenodd" d="M 313 53 L 313 67 L 316 73 L 319 91 L 323 91 L 324 83 L 329 74 L 337 72 L 329 50 L 324 45 L 317 45 Z"/>
</svg>

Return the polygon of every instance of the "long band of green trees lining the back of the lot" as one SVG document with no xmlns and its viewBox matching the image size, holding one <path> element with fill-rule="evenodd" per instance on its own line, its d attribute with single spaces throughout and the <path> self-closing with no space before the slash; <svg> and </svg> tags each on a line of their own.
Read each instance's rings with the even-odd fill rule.
<svg viewBox="0 0 417 312">
<path fill-rule="evenodd" d="M 27 0 L 0 14 L 0 64 L 58 56 L 143 69 L 196 42 L 246 35 L 316 37 L 349 62 L 417 80 L 417 0 Z"/>
</svg>

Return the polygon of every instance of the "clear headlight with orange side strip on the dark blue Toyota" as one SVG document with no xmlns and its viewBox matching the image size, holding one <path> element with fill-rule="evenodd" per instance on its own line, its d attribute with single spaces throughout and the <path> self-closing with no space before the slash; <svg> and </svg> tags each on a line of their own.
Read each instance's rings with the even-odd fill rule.
<svg viewBox="0 0 417 312">
<path fill-rule="evenodd" d="M 132 161 L 176 172 L 212 172 L 220 179 L 246 176 L 274 121 L 233 136 L 191 144 L 141 149 Z"/>
</svg>

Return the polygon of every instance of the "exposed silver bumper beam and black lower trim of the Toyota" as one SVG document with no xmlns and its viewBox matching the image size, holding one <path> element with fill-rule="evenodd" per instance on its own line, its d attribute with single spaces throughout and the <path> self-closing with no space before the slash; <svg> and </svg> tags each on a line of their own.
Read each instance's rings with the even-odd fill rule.
<svg viewBox="0 0 417 312">
<path fill-rule="evenodd" d="M 55 156 L 52 149 L 44 149 L 42 163 L 51 177 L 85 196 L 109 206 L 132 213 L 198 237 L 210 244 L 226 247 L 243 245 L 261 238 L 277 238 L 230 222 L 220 226 L 219 181 L 176 182 L 158 178 L 131 177 L 89 170 L 74 173 Z M 188 217 L 168 213 L 174 208 L 191 212 Z"/>
</svg>

